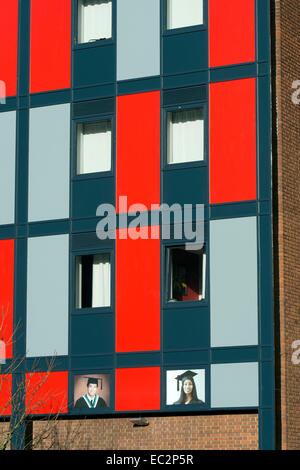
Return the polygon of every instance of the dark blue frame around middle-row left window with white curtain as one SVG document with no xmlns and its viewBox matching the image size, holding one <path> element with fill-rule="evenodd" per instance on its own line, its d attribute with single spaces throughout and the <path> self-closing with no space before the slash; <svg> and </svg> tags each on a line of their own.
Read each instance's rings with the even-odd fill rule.
<svg viewBox="0 0 300 470">
<path fill-rule="evenodd" d="M 77 129 L 78 124 L 93 123 L 99 121 L 111 122 L 111 168 L 106 171 L 95 171 L 93 173 L 77 173 Z M 80 116 L 79 118 L 73 119 L 72 129 L 72 145 L 73 145 L 73 158 L 72 158 L 72 180 L 86 180 L 94 178 L 107 178 L 114 176 L 115 173 L 115 138 L 116 138 L 116 123 L 114 114 L 95 114 L 92 116 Z"/>
</svg>

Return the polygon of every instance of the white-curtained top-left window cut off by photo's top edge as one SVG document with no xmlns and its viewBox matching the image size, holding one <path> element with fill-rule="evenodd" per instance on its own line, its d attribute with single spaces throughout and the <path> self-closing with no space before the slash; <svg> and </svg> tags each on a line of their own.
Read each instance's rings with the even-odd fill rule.
<svg viewBox="0 0 300 470">
<path fill-rule="evenodd" d="M 78 42 L 111 38 L 112 0 L 78 0 Z"/>
</svg>

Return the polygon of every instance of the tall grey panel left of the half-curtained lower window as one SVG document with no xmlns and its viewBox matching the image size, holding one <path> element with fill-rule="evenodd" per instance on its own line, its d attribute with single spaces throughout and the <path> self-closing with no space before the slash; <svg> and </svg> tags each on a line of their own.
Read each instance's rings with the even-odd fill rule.
<svg viewBox="0 0 300 470">
<path fill-rule="evenodd" d="M 27 356 L 68 354 L 69 236 L 28 239 Z"/>
</svg>

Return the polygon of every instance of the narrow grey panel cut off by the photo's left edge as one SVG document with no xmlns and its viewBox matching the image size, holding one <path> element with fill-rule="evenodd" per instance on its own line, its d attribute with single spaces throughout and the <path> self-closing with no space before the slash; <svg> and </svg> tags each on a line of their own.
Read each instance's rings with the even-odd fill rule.
<svg viewBox="0 0 300 470">
<path fill-rule="evenodd" d="M 16 112 L 0 113 L 0 224 L 15 222 Z"/>
</svg>

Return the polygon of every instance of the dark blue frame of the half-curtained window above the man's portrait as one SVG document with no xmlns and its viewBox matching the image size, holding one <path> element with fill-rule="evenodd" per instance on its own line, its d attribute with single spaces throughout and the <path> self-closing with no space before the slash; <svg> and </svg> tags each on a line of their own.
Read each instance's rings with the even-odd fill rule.
<svg viewBox="0 0 300 470">
<path fill-rule="evenodd" d="M 100 243 L 100 240 L 99 240 Z M 110 305 L 105 307 L 76 307 L 76 257 L 86 256 L 86 255 L 101 255 L 109 254 L 110 257 Z M 105 246 L 103 248 L 86 248 L 73 251 L 71 254 L 71 285 L 72 289 L 70 290 L 71 295 L 71 312 L 72 315 L 86 315 L 86 314 L 97 314 L 97 313 L 113 313 L 115 309 L 115 256 L 114 248 Z"/>
</svg>

